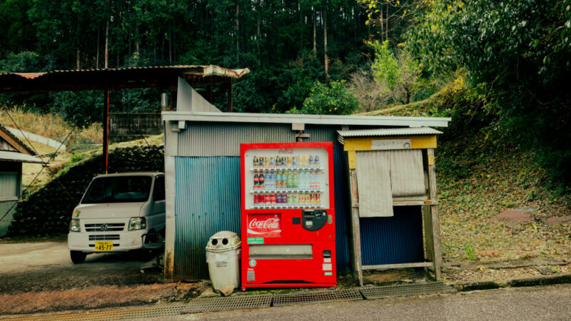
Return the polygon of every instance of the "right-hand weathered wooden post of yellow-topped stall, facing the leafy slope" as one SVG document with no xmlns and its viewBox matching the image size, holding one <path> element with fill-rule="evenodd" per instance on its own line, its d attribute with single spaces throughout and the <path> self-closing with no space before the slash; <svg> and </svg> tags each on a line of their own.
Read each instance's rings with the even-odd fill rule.
<svg viewBox="0 0 571 321">
<path fill-rule="evenodd" d="M 438 200 L 436 193 L 436 170 L 434 161 L 434 148 L 426 151 L 428 161 L 428 185 L 430 187 L 430 200 Z M 433 202 L 434 204 L 435 202 Z M 436 280 L 440 280 L 442 275 L 442 250 L 440 249 L 440 220 L 438 218 L 438 204 L 429 205 L 430 219 L 432 223 L 433 254 L 434 254 L 434 274 Z"/>
</svg>

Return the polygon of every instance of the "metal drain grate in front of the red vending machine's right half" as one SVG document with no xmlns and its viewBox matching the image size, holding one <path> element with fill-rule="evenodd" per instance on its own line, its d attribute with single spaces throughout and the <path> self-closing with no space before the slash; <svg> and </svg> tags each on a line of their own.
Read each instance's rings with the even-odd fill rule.
<svg viewBox="0 0 571 321">
<path fill-rule="evenodd" d="M 293 292 L 273 296 L 273 306 L 306 305 L 320 302 L 363 300 L 358 290 L 320 290 Z"/>
</svg>

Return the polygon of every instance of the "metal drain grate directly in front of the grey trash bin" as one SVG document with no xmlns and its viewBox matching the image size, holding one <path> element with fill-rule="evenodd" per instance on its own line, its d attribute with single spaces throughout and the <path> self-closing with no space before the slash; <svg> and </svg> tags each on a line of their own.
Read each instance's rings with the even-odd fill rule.
<svg viewBox="0 0 571 321">
<path fill-rule="evenodd" d="M 221 310 L 253 309 L 270 307 L 271 294 L 236 295 L 234 297 L 204 297 L 188 302 L 181 313 L 212 312 Z"/>
</svg>

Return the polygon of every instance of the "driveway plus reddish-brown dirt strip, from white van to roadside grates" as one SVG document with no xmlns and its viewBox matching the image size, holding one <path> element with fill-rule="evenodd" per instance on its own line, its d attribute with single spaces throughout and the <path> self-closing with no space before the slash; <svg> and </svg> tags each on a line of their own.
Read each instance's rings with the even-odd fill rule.
<svg viewBox="0 0 571 321">
<path fill-rule="evenodd" d="M 74 265 L 66 242 L 0 243 L 0 315 L 168 302 L 199 284 L 141 272 L 137 253 L 88 255 Z"/>
</svg>

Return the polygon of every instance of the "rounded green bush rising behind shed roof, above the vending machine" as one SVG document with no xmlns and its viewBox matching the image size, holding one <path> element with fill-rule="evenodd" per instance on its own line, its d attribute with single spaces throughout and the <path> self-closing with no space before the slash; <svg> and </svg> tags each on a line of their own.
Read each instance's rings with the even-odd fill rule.
<svg viewBox="0 0 571 321">
<path fill-rule="evenodd" d="M 349 115 L 358 108 L 357 100 L 345 88 L 345 81 L 316 82 L 302 108 L 292 108 L 288 113 L 318 115 Z"/>
</svg>

